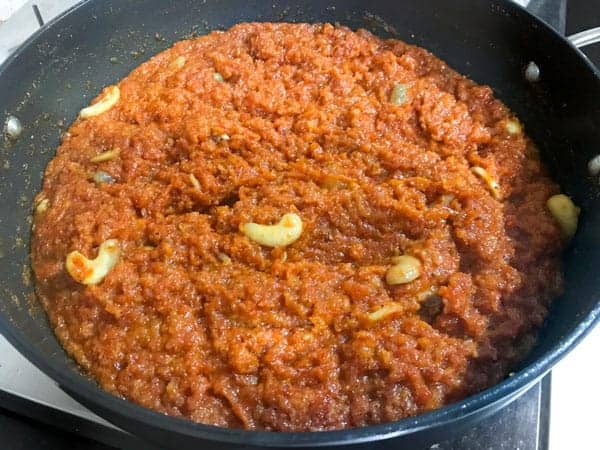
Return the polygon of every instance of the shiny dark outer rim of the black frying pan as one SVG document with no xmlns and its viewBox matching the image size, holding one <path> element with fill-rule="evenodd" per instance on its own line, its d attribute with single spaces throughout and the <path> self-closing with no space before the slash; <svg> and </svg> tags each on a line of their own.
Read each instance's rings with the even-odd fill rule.
<svg viewBox="0 0 600 450">
<path fill-rule="evenodd" d="M 41 26 L 9 56 L 2 65 L 0 65 L 0 77 L 2 77 L 12 62 L 29 46 L 34 45 L 46 31 L 51 29 L 66 16 L 85 7 L 89 3 L 93 3 L 93 1 L 94 0 L 83 0 L 76 3 L 53 20 Z M 571 51 L 575 51 L 579 59 L 587 66 L 587 69 L 591 71 L 597 79 L 600 79 L 600 69 L 595 67 L 580 49 L 576 48 L 546 22 L 533 16 L 525 8 L 510 0 L 496 0 L 490 3 L 490 7 L 497 7 L 498 5 L 515 14 L 521 16 L 525 15 L 530 22 L 533 21 L 534 23 L 537 23 L 543 32 L 551 33 L 555 39 L 561 41 L 564 45 L 567 45 Z M 22 332 L 16 330 L 16 328 L 2 315 L 0 315 L 0 333 L 2 333 L 19 352 L 26 355 L 27 359 L 29 359 L 37 368 L 56 381 L 61 389 L 64 386 L 65 389 L 72 391 L 80 397 L 86 405 L 91 404 L 95 406 L 95 404 L 97 404 L 101 409 L 110 410 L 123 419 L 135 419 L 159 430 L 168 430 L 192 438 L 211 440 L 226 444 L 260 445 L 264 447 L 321 447 L 360 444 L 392 439 L 426 429 L 438 428 L 458 420 L 466 419 L 486 407 L 490 407 L 503 400 L 508 402 L 523 393 L 529 386 L 544 376 L 598 323 L 600 323 L 600 299 L 597 300 L 596 305 L 580 320 L 578 325 L 569 335 L 565 336 L 560 343 L 552 346 L 532 364 L 526 366 L 500 383 L 459 402 L 399 421 L 370 425 L 361 428 L 311 432 L 270 432 L 230 429 L 167 416 L 104 391 L 93 380 L 82 373 L 57 368 L 49 362 L 46 355 L 29 342 L 27 337 Z M 93 407 L 90 409 L 94 410 Z M 112 422 L 112 420 L 109 421 Z M 116 425 L 120 426 L 119 424 Z"/>
</svg>

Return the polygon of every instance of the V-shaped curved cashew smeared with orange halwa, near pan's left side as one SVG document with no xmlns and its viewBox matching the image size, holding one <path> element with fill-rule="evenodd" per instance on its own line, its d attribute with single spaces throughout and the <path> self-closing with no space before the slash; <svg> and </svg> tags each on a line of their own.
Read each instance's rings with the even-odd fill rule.
<svg viewBox="0 0 600 450">
<path fill-rule="evenodd" d="M 95 259 L 87 259 L 78 251 L 73 251 L 67 255 L 67 272 L 78 283 L 98 284 L 117 264 L 120 254 L 116 239 L 104 241 L 98 248 Z"/>
</svg>

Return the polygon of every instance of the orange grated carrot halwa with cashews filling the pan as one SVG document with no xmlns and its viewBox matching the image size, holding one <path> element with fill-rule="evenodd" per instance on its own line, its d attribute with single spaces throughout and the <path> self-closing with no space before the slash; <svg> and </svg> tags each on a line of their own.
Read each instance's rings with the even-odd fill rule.
<svg viewBox="0 0 600 450">
<path fill-rule="evenodd" d="M 32 262 L 104 389 L 224 427 L 358 427 L 524 357 L 562 288 L 558 193 L 492 90 L 427 51 L 240 24 L 82 110 Z"/>
</svg>

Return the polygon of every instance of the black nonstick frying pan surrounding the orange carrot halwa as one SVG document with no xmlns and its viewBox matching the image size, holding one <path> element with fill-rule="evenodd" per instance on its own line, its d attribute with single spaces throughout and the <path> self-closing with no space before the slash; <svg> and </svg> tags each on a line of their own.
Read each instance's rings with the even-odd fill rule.
<svg viewBox="0 0 600 450">
<path fill-rule="evenodd" d="M 423 46 L 493 87 L 526 125 L 562 190 L 582 207 L 565 254 L 565 294 L 538 345 L 500 384 L 414 418 L 359 429 L 269 433 L 167 417 L 112 396 L 81 375 L 36 305 L 29 271 L 31 202 L 61 132 L 100 89 L 178 39 L 243 21 L 339 22 Z M 538 82 L 523 68 L 534 61 Z M 397 448 L 471 425 L 542 377 L 600 317 L 600 190 L 588 161 L 600 152 L 600 73 L 571 43 L 521 7 L 461 0 L 89 0 L 46 24 L 0 68 L 2 118 L 25 129 L 0 145 L 0 331 L 65 391 L 107 420 L 165 447 Z M 585 401 L 582 399 L 582 401 Z M 421 436 L 421 437 L 419 437 Z"/>
</svg>

